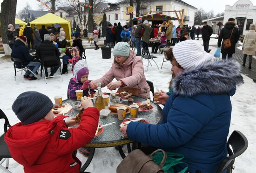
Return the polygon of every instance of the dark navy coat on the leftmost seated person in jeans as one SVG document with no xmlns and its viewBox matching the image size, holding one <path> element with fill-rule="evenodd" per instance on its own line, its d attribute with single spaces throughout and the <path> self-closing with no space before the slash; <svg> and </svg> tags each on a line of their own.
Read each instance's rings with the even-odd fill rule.
<svg viewBox="0 0 256 173">
<path fill-rule="evenodd" d="M 27 66 L 29 62 L 33 60 L 33 57 L 30 56 L 26 45 L 27 43 L 20 38 L 17 38 L 12 49 L 12 57 L 19 58 L 22 61 L 23 66 Z M 19 62 L 15 62 L 15 65 L 20 67 Z"/>
</svg>

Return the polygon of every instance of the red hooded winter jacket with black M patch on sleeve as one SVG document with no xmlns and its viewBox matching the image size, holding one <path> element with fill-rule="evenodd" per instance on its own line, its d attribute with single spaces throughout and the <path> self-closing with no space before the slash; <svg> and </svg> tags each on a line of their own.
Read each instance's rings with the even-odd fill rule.
<svg viewBox="0 0 256 173">
<path fill-rule="evenodd" d="M 65 117 L 29 125 L 20 122 L 8 129 L 4 139 L 25 173 L 79 173 L 81 162 L 72 151 L 94 138 L 99 111 L 87 108 L 78 128 L 67 128 Z"/>
</svg>

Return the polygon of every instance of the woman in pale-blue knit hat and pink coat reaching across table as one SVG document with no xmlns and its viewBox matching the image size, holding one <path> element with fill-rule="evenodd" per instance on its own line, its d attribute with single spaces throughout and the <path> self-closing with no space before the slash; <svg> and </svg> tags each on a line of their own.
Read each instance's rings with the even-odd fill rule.
<svg viewBox="0 0 256 173">
<path fill-rule="evenodd" d="M 109 90 L 119 87 L 139 88 L 140 96 L 150 98 L 150 87 L 144 75 L 144 67 L 140 57 L 130 50 L 128 43 L 118 42 L 114 49 L 115 57 L 112 67 L 100 79 L 90 82 L 90 87 L 97 88 L 97 82 L 101 82 L 101 87 L 108 86 Z M 113 79 L 117 81 L 112 82 Z"/>
</svg>

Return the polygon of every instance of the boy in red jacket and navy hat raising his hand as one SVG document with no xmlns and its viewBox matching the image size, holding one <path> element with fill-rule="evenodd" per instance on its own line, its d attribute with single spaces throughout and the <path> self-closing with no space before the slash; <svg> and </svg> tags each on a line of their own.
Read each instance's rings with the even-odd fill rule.
<svg viewBox="0 0 256 173">
<path fill-rule="evenodd" d="M 20 123 L 11 126 L 4 139 L 12 158 L 24 166 L 25 173 L 79 173 L 81 161 L 72 153 L 95 135 L 99 111 L 90 98 L 81 98 L 85 109 L 78 128 L 74 117 L 54 118 L 53 103 L 44 94 L 21 93 L 12 109 Z"/>
</svg>

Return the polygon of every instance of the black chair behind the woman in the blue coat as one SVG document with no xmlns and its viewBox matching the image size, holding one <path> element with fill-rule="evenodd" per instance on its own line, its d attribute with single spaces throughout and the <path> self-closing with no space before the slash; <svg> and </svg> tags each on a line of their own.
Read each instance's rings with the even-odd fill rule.
<svg viewBox="0 0 256 173">
<path fill-rule="evenodd" d="M 232 150 L 230 148 L 232 147 Z M 248 140 L 243 133 L 235 130 L 229 137 L 227 142 L 229 156 L 224 158 L 222 164 L 219 166 L 217 173 L 232 173 L 232 169 L 235 169 L 235 158 L 240 156 L 248 147 Z"/>
</svg>

